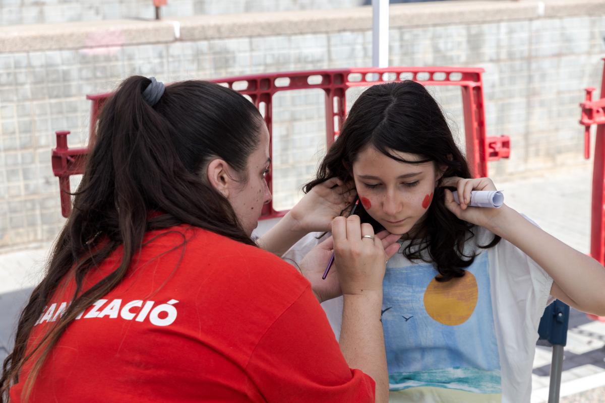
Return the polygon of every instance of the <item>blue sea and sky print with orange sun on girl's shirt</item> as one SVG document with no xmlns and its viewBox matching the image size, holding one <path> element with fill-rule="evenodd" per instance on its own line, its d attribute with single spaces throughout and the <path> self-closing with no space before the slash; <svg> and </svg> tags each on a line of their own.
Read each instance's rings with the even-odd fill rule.
<svg viewBox="0 0 605 403">
<path fill-rule="evenodd" d="M 391 391 L 408 397 L 422 391 L 431 401 L 499 402 L 488 251 L 459 279 L 439 283 L 435 275 L 428 263 L 386 271 L 382 325 Z"/>
</svg>

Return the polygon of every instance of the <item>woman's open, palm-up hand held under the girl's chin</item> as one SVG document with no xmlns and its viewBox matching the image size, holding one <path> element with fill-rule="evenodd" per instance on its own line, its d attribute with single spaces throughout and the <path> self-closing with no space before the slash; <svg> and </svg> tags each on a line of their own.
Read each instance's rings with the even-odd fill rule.
<svg viewBox="0 0 605 403">
<path fill-rule="evenodd" d="M 376 234 L 376 238 L 381 240 L 382 248 L 386 251 L 386 260 L 390 259 L 399 250 L 399 243 L 397 243 L 399 237 L 401 236 L 391 234 L 388 231 L 381 231 Z M 333 263 L 332 268 L 330 268 L 325 280 L 321 278 L 328 262 L 332 258 L 332 253 L 334 253 L 334 239 L 330 236 L 310 250 L 299 265 L 302 276 L 309 280 L 313 293 L 315 293 L 320 303 L 342 295 L 340 283 L 338 282 L 338 265 L 336 261 Z"/>
</svg>

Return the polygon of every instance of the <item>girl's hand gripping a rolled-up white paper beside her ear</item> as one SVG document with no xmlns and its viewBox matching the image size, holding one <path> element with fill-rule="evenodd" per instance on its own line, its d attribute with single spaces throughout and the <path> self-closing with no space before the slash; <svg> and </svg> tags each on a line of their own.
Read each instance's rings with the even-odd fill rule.
<svg viewBox="0 0 605 403">
<path fill-rule="evenodd" d="M 494 182 L 489 178 L 464 179 L 457 176 L 443 179 L 443 187 L 455 187 L 458 191 L 460 204 L 454 201 L 454 195 L 449 189 L 445 189 L 445 207 L 454 215 L 471 224 L 491 228 L 496 224 L 494 220 L 505 211 L 505 208 L 469 207 L 471 202 L 471 190 L 497 190 Z M 504 206 L 503 206 L 504 207 Z"/>
</svg>

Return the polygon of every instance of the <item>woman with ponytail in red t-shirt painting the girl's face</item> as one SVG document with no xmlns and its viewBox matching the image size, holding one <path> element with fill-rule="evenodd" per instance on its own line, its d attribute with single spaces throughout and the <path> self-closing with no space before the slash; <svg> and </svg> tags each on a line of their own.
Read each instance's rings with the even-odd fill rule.
<svg viewBox="0 0 605 403">
<path fill-rule="evenodd" d="M 237 92 L 126 79 L 19 318 L 2 402 L 385 401 L 382 276 L 398 245 L 356 216 L 332 222 L 339 346 L 321 286 L 250 237 L 271 198 L 269 163 L 263 119 Z M 301 206 L 287 220 L 310 230 Z M 325 267 L 325 245 L 301 270 Z"/>
</svg>

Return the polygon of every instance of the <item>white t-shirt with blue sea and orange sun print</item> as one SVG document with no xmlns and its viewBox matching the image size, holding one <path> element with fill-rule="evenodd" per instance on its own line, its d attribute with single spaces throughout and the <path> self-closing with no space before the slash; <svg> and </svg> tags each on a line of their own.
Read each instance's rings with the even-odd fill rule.
<svg viewBox="0 0 605 403">
<path fill-rule="evenodd" d="M 540 318 L 552 279 L 523 251 L 475 227 L 465 254 L 478 254 L 459 279 L 399 253 L 387 263 L 382 326 L 391 402 L 524 403 Z M 284 257 L 300 262 L 321 239 L 309 234 Z M 409 242 L 409 241 L 408 241 Z M 342 297 L 322 303 L 336 338 Z"/>
</svg>

